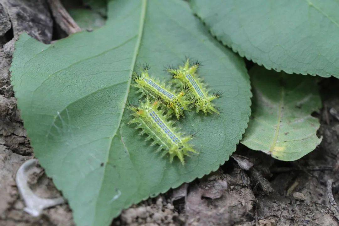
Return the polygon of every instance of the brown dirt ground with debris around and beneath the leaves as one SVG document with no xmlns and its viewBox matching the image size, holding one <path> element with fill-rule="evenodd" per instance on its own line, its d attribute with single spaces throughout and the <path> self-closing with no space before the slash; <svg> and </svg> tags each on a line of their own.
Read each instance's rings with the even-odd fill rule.
<svg viewBox="0 0 339 226">
<path fill-rule="evenodd" d="M 17 6 L 16 0 L 0 0 L 0 226 L 71 226 L 67 204 L 46 209 L 37 218 L 24 212 L 15 183 L 17 169 L 34 154 L 9 82 L 13 43 L 23 31 L 45 43 L 62 37 L 56 34 L 57 25 L 44 0 L 22 2 Z M 36 20 L 37 14 L 45 20 Z M 327 189 L 327 181 L 333 180 L 333 195 L 339 201 L 339 115 L 335 114 L 339 80 L 320 79 L 319 85 L 324 107 L 314 116 L 321 121 L 318 133 L 323 140 L 316 150 L 298 161 L 282 162 L 238 145 L 239 156 L 217 172 L 124 210 L 112 225 L 339 225 L 339 212 Z M 43 169 L 29 183 L 41 197 L 58 193 Z"/>
</svg>

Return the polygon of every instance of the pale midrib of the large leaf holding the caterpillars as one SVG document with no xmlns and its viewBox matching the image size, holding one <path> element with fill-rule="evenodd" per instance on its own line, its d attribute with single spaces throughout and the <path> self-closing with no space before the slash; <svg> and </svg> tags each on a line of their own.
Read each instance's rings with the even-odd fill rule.
<svg viewBox="0 0 339 226">
<path fill-rule="evenodd" d="M 132 76 L 132 73 L 133 73 L 133 70 L 134 70 L 134 67 L 135 67 L 135 63 L 136 63 L 136 60 L 137 60 L 137 56 L 138 56 L 138 53 L 139 53 L 139 48 L 140 48 L 140 43 L 141 43 L 141 38 L 142 38 L 143 29 L 144 29 L 144 23 L 145 23 L 146 6 L 147 6 L 147 0 L 142 0 L 138 39 L 137 39 L 135 50 L 134 50 L 134 54 L 133 54 L 133 60 L 132 60 L 132 64 L 131 64 L 131 73 L 129 74 L 128 77 Z M 131 79 L 129 79 L 128 82 L 127 82 L 127 89 L 126 89 L 126 93 L 125 93 L 125 97 L 124 97 L 123 103 L 126 103 L 126 101 L 127 101 L 127 97 L 128 97 L 128 93 L 129 93 L 129 88 L 130 87 L 131 87 Z M 107 155 L 106 155 L 105 165 L 104 165 L 104 171 L 102 173 L 102 180 L 101 180 L 101 183 L 100 183 L 100 188 L 99 188 L 98 196 L 96 197 L 96 201 L 95 201 L 94 219 L 95 219 L 95 217 L 97 215 L 98 197 L 99 197 L 99 194 L 101 193 L 101 190 L 102 190 L 104 176 L 105 176 L 106 169 L 107 169 L 109 150 L 111 150 L 111 148 L 112 148 L 112 141 L 113 141 L 114 137 L 117 135 L 118 129 L 120 129 L 121 119 L 122 119 L 124 110 L 125 110 L 125 107 L 123 107 L 122 110 L 121 110 L 121 114 L 120 114 L 120 117 L 119 117 L 119 120 L 118 120 L 118 126 L 117 126 L 115 132 L 113 133 L 113 135 L 111 136 L 111 138 L 109 140 L 109 145 L 108 145 L 108 150 L 107 150 Z"/>
</svg>

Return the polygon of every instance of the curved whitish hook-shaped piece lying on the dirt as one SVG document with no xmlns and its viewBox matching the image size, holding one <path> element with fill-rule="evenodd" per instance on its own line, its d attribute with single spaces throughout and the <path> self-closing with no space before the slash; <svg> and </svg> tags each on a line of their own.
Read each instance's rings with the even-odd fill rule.
<svg viewBox="0 0 339 226">
<path fill-rule="evenodd" d="M 19 189 L 19 193 L 24 200 L 26 207 L 24 211 L 31 214 L 34 217 L 38 217 L 42 210 L 51 206 L 59 205 L 65 202 L 63 197 L 58 197 L 54 199 L 40 198 L 34 194 L 32 189 L 27 184 L 27 175 L 30 170 L 33 170 L 36 167 L 38 160 L 29 159 L 24 162 L 18 169 L 16 176 L 16 183 Z"/>
</svg>

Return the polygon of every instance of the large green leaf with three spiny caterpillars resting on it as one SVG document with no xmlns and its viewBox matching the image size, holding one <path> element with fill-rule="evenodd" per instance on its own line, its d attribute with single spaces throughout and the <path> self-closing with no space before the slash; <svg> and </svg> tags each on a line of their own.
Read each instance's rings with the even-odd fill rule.
<svg viewBox="0 0 339 226">
<path fill-rule="evenodd" d="M 199 155 L 169 163 L 128 125 L 127 101 L 137 101 L 129 77 L 148 62 L 151 76 L 185 56 L 202 61 L 199 75 L 224 91 L 224 112 L 177 123 Z M 188 4 L 111 1 L 106 25 L 45 45 L 22 35 L 12 84 L 35 156 L 62 190 L 78 225 L 108 225 L 122 208 L 217 170 L 242 138 L 250 114 L 243 60 L 213 39 Z"/>
</svg>

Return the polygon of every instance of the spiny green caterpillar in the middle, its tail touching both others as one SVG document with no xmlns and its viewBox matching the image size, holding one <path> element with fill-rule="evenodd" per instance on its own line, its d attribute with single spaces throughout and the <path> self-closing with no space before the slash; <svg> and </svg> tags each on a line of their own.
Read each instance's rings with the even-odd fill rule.
<svg viewBox="0 0 339 226">
<path fill-rule="evenodd" d="M 151 79 L 148 75 L 149 65 L 144 64 L 141 73 L 138 75 L 133 73 L 132 80 L 135 82 L 134 86 L 139 88 L 139 92 L 144 95 L 149 95 L 155 100 L 162 100 L 162 103 L 174 112 L 179 120 L 180 115 L 184 117 L 183 111 L 189 110 L 190 100 L 185 99 L 185 94 L 191 89 L 188 85 L 182 85 L 178 94 L 172 92 L 169 87 L 160 84 L 159 81 Z"/>
</svg>

